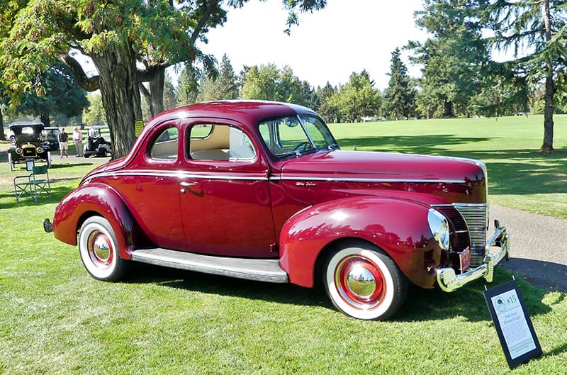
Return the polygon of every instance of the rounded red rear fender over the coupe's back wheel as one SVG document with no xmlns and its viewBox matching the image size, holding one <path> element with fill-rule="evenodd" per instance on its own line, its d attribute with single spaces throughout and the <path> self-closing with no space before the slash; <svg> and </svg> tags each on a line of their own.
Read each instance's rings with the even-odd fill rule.
<svg viewBox="0 0 567 375">
<path fill-rule="evenodd" d="M 82 185 L 67 194 L 55 208 L 53 235 L 57 240 L 77 245 L 79 226 L 86 217 L 93 215 L 108 220 L 118 240 L 120 257 L 130 259 L 135 220 L 123 199 L 105 184 Z"/>
</svg>

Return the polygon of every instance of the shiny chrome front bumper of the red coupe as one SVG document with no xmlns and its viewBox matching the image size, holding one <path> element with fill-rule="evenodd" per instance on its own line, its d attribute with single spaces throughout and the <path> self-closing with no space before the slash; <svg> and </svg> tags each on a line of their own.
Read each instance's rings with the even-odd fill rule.
<svg viewBox="0 0 567 375">
<path fill-rule="evenodd" d="M 510 235 L 506 233 L 506 228 L 500 225 L 498 220 L 494 220 L 494 225 L 494 235 L 486 242 L 483 264 L 459 275 L 455 274 L 455 270 L 451 267 L 437 269 L 437 284 L 442 290 L 454 291 L 481 277 L 484 277 L 489 283 L 492 282 L 496 264 L 502 259 L 510 259 Z M 492 247 L 499 247 L 496 254 L 491 252 Z"/>
</svg>

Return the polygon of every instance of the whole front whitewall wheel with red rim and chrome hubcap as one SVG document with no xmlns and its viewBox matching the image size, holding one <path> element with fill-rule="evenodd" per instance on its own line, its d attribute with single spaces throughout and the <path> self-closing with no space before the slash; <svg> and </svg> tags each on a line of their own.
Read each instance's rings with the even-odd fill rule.
<svg viewBox="0 0 567 375">
<path fill-rule="evenodd" d="M 366 242 L 352 242 L 332 252 L 323 278 L 333 305 L 358 319 L 390 318 L 408 293 L 408 280 L 391 257 Z"/>
</svg>

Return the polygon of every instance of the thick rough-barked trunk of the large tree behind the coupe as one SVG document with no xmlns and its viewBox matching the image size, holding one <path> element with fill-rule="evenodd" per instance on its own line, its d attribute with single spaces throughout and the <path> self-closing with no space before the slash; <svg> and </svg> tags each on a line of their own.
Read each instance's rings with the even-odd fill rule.
<svg viewBox="0 0 567 375">
<path fill-rule="evenodd" d="M 125 42 L 94 54 L 92 59 L 99 70 L 102 104 L 111 130 L 112 157 L 118 159 L 130 152 L 136 138 L 135 121 L 142 118 L 134 51 Z"/>
</svg>

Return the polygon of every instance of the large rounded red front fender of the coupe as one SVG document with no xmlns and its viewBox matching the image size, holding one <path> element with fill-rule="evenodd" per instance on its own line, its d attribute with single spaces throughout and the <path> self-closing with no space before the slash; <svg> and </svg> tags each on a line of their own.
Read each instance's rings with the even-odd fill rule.
<svg viewBox="0 0 567 375">
<path fill-rule="evenodd" d="M 289 280 L 314 284 L 315 264 L 338 240 L 357 238 L 384 250 L 414 284 L 431 288 L 442 250 L 427 223 L 429 206 L 398 198 L 352 197 L 318 204 L 292 216 L 281 230 L 281 267 Z"/>
</svg>

